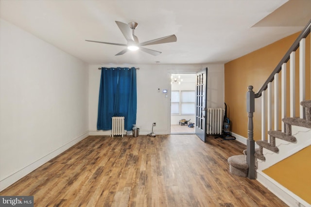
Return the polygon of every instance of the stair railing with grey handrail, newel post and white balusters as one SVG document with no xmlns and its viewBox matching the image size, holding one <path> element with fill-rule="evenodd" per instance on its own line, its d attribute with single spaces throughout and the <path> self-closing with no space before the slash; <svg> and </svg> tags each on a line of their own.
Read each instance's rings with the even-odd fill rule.
<svg viewBox="0 0 311 207">
<path fill-rule="evenodd" d="M 284 57 L 277 64 L 274 71 L 269 78 L 265 81 L 259 91 L 255 94 L 253 86 L 248 86 L 248 92 L 246 93 L 246 108 L 248 113 L 248 139 L 247 139 L 247 153 L 246 162 L 248 168 L 248 178 L 256 179 L 255 169 L 255 141 L 253 139 L 253 113 L 255 112 L 255 98 L 261 97 L 261 140 L 266 140 L 266 131 L 279 130 L 279 119 L 287 117 L 286 114 L 286 63 L 290 61 L 290 117 L 295 117 L 295 51 L 299 48 L 299 102 L 305 100 L 306 93 L 306 37 L 311 32 L 311 20 L 306 27 L 299 34 L 294 44 L 289 48 Z M 279 73 L 281 72 L 281 89 L 279 89 Z M 274 84 L 274 85 L 272 85 Z M 297 83 L 298 84 L 298 83 Z M 274 87 L 274 92 L 272 88 Z M 281 116 L 278 113 L 279 105 L 279 91 L 281 91 Z M 267 98 L 266 98 L 267 96 Z M 272 108 L 272 98 L 274 98 L 274 108 Z M 266 110 L 267 105 L 267 110 Z M 274 114 L 272 114 L 274 110 Z M 305 118 L 304 108 L 300 106 L 299 116 Z M 266 113 L 267 111 L 267 113 Z M 267 123 L 266 123 L 267 118 Z M 272 118 L 274 118 L 274 129 L 272 129 Z M 266 128 L 267 125 L 267 128 Z M 285 124 L 281 125 L 282 132 L 286 132 Z M 268 142 L 270 143 L 270 136 L 268 136 Z"/>
</svg>

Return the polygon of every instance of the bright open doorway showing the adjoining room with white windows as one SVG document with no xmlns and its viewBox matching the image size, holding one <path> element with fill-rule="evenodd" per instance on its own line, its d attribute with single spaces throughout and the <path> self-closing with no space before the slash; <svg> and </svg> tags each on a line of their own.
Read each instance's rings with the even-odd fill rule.
<svg viewBox="0 0 311 207">
<path fill-rule="evenodd" d="M 195 133 L 195 89 L 195 73 L 171 75 L 171 134 Z"/>
</svg>

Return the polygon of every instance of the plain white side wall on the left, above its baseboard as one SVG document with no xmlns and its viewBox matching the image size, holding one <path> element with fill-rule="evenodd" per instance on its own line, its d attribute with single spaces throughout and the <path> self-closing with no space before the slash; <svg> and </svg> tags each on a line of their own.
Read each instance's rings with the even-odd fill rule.
<svg viewBox="0 0 311 207">
<path fill-rule="evenodd" d="M 0 19 L 0 190 L 88 135 L 87 65 Z"/>
</svg>

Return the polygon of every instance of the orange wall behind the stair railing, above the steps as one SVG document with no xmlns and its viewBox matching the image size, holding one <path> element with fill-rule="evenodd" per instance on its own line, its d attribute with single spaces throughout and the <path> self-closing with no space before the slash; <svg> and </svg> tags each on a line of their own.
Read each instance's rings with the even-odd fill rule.
<svg viewBox="0 0 311 207">
<path fill-rule="evenodd" d="M 260 48 L 254 52 L 237 58 L 225 64 L 225 103 L 227 104 L 227 117 L 230 119 L 231 131 L 247 138 L 247 111 L 246 92 L 248 86 L 253 85 L 253 91 L 258 92 L 263 83 L 270 76 L 276 65 L 292 46 L 300 32 L 285 37 L 275 43 Z M 299 50 L 299 48 L 298 48 Z M 299 116 L 299 51 L 296 51 L 296 115 Z M 306 38 L 306 99 L 310 99 L 310 34 Z M 309 68 L 309 69 L 308 69 Z M 289 62 L 287 63 L 289 74 Z M 281 74 L 279 74 L 279 79 Z M 289 80 L 287 80 L 287 100 L 289 102 Z M 280 87 L 279 80 L 279 87 Z M 280 96 L 280 95 L 279 95 Z M 279 101 L 279 114 L 280 110 Z M 289 104 L 288 104 L 289 106 Z M 287 114 L 289 114 L 289 107 Z M 279 119 L 281 126 L 281 119 Z M 254 140 L 261 139 L 261 98 L 255 99 L 254 113 Z"/>
</svg>

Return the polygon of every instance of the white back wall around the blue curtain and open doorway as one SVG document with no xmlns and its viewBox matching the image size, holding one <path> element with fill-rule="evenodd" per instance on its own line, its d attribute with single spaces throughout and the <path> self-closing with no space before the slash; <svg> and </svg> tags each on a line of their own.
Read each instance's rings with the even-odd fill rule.
<svg viewBox="0 0 311 207">
<path fill-rule="evenodd" d="M 110 131 L 97 130 L 97 110 L 101 70 L 99 67 L 139 67 L 137 70 L 137 127 L 140 134 L 148 134 L 152 130 L 155 134 L 170 133 L 170 92 L 171 74 L 197 72 L 208 67 L 207 97 L 208 107 L 224 108 L 224 64 L 155 64 L 155 65 L 89 65 L 89 134 L 109 135 Z M 158 89 L 168 89 L 166 98 Z"/>
</svg>

